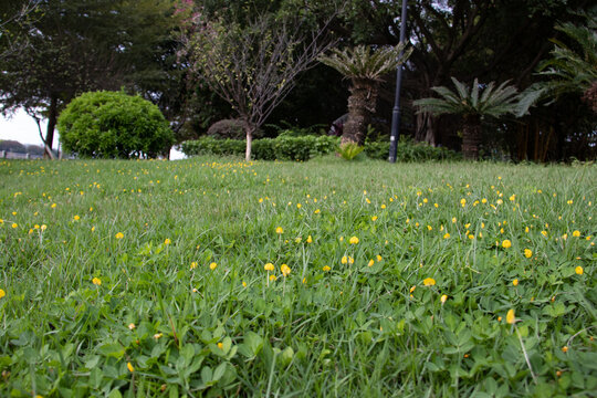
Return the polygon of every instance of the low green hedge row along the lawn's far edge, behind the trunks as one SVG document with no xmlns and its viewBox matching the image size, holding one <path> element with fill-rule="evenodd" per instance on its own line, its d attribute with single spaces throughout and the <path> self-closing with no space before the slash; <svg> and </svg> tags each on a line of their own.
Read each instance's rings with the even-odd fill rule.
<svg viewBox="0 0 597 398">
<path fill-rule="evenodd" d="M 280 136 L 253 140 L 252 157 L 255 160 L 308 160 L 315 156 L 333 154 L 337 150 L 339 137 L 331 136 Z M 202 137 L 181 145 L 187 156 L 219 155 L 243 156 L 244 139 L 216 139 Z M 371 159 L 386 160 L 389 143 L 367 143 L 365 154 Z M 396 154 L 397 161 L 457 160 L 460 154 L 446 148 L 401 139 Z"/>
</svg>

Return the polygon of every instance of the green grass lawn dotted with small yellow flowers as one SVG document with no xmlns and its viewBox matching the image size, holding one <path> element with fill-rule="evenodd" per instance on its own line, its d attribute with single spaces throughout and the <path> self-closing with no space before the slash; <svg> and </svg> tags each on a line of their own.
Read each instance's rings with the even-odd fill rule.
<svg viewBox="0 0 597 398">
<path fill-rule="evenodd" d="M 0 396 L 591 395 L 595 181 L 591 165 L 1 161 Z"/>
</svg>

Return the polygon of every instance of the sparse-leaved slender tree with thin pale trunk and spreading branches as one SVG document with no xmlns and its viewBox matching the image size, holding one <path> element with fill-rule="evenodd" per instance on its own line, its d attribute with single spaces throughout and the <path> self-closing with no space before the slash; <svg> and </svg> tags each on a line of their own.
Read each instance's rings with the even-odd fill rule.
<svg viewBox="0 0 597 398">
<path fill-rule="evenodd" d="M 307 22 L 289 15 L 262 14 L 240 23 L 233 18 L 190 12 L 181 38 L 195 78 L 229 103 L 244 124 L 245 159 L 251 143 L 272 111 L 316 63 L 332 42 L 327 23 L 306 29 Z"/>
</svg>

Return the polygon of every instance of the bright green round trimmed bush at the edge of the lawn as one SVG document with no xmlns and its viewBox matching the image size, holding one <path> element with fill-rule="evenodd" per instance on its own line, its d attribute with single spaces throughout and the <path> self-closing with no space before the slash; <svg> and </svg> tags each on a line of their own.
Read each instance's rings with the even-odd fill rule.
<svg viewBox="0 0 597 398">
<path fill-rule="evenodd" d="M 157 157 L 170 149 L 174 133 L 159 108 L 123 92 L 93 92 L 62 111 L 57 129 L 64 150 L 80 157 Z"/>
</svg>

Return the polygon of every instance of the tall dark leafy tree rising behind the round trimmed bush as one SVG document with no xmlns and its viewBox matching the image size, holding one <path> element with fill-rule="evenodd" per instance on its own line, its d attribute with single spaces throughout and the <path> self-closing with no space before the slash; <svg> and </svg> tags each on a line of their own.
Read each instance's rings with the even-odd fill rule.
<svg viewBox="0 0 597 398">
<path fill-rule="evenodd" d="M 127 87 L 159 101 L 165 51 L 176 52 L 163 48 L 172 13 L 170 0 L 36 1 L 25 21 L 9 23 L 11 36 L 0 38 L 0 51 L 22 48 L 0 59 L 0 112 L 46 118 L 40 136 L 52 157 L 57 116 L 77 94 Z"/>
</svg>

